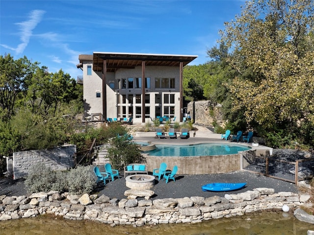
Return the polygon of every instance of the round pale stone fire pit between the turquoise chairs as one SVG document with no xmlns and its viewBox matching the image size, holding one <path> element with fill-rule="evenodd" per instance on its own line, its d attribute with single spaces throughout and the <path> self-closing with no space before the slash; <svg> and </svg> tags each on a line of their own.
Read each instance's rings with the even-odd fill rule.
<svg viewBox="0 0 314 235">
<path fill-rule="evenodd" d="M 152 175 L 129 175 L 126 177 L 128 188 L 150 189 L 154 186 L 155 177 Z"/>
</svg>

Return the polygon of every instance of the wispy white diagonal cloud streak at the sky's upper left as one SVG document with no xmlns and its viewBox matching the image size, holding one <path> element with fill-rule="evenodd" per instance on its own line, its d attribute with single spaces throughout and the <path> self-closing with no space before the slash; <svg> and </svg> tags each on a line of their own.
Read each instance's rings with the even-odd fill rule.
<svg viewBox="0 0 314 235">
<path fill-rule="evenodd" d="M 16 23 L 20 27 L 20 39 L 22 43 L 19 44 L 17 48 L 14 49 L 11 47 L 11 49 L 15 50 L 17 54 L 23 53 L 24 49 L 27 47 L 33 29 L 41 22 L 44 13 L 45 11 L 42 10 L 33 10 L 30 12 L 28 21 Z"/>
</svg>

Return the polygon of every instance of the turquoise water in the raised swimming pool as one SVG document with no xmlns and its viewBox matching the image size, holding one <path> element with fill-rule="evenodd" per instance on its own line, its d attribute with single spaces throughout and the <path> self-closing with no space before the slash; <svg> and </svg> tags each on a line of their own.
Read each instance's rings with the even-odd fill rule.
<svg viewBox="0 0 314 235">
<path fill-rule="evenodd" d="M 156 144 L 156 149 L 148 151 L 152 156 L 215 156 L 237 154 L 239 151 L 251 149 L 239 144 L 200 143 L 192 145 Z"/>
</svg>

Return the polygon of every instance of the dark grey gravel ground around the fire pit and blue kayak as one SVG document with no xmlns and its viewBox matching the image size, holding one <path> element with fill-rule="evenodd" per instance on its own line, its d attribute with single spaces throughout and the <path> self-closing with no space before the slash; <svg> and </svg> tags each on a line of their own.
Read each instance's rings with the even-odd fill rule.
<svg viewBox="0 0 314 235">
<path fill-rule="evenodd" d="M 243 182 L 247 183 L 247 185 L 245 188 L 230 192 L 202 191 L 201 187 L 203 185 L 215 182 Z M 292 183 L 265 177 L 248 171 L 235 171 L 224 174 L 178 175 L 176 177 L 176 182 L 171 180 L 168 184 L 163 180 L 158 181 L 158 178 L 156 178 L 155 186 L 151 188 L 151 190 L 155 192 L 155 195 L 152 197 L 154 200 L 160 198 L 183 198 L 191 196 L 210 197 L 217 195 L 223 197 L 226 193 L 236 194 L 254 188 L 274 188 L 275 192 L 298 192 L 297 187 Z M 128 189 L 130 188 L 126 187 L 125 178 L 120 176 L 120 179 L 110 181 L 109 183 L 106 183 L 105 186 L 103 183 L 99 183 L 93 193 L 99 193 L 99 196 L 104 194 L 110 198 L 121 200 L 122 198 L 126 198 L 124 192 Z M 0 195 L 21 196 L 29 194 L 27 194 L 23 179 L 13 180 L 11 178 L 2 178 L 0 179 Z"/>
</svg>

